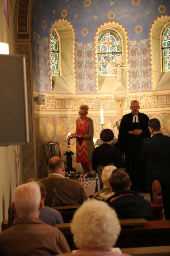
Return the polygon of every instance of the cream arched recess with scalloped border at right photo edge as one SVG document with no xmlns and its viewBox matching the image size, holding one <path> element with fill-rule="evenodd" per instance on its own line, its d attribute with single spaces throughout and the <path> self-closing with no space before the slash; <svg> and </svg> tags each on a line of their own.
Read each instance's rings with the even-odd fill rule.
<svg viewBox="0 0 170 256">
<path fill-rule="evenodd" d="M 150 70 L 152 89 L 155 90 L 168 88 L 166 83 L 170 74 L 163 73 L 162 69 L 162 32 L 169 22 L 170 15 L 162 15 L 157 17 L 150 26 Z"/>
</svg>

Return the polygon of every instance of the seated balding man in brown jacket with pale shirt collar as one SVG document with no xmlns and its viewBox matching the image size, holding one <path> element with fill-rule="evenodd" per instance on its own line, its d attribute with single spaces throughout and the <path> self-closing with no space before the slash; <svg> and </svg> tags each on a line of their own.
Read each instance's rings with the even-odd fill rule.
<svg viewBox="0 0 170 256">
<path fill-rule="evenodd" d="M 47 167 L 49 176 L 40 181 L 45 185 L 45 206 L 82 204 L 87 196 L 79 182 L 65 178 L 64 161 L 53 156 Z"/>
</svg>

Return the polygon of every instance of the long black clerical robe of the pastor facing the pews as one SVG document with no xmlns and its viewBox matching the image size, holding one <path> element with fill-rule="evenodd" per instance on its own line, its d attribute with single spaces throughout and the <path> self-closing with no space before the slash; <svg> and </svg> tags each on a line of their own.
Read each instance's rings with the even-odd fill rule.
<svg viewBox="0 0 170 256">
<path fill-rule="evenodd" d="M 132 113 L 123 116 L 117 142 L 122 152 L 125 152 L 126 171 L 131 178 L 133 190 L 143 186 L 143 180 L 145 177 L 141 175 L 142 173 L 139 163 L 141 142 L 143 139 L 150 137 L 150 132 L 148 130 L 149 117 L 143 113 L 138 113 L 137 116 L 139 122 L 133 122 Z M 142 130 L 142 133 L 140 135 L 128 134 L 129 131 L 133 131 L 135 129 Z"/>
</svg>

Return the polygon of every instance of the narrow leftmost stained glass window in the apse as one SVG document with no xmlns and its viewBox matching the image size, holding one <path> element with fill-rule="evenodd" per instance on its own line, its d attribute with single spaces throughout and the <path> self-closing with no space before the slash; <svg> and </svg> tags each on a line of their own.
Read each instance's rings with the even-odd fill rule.
<svg viewBox="0 0 170 256">
<path fill-rule="evenodd" d="M 59 76 L 59 40 L 54 30 L 51 31 L 51 74 Z"/>
</svg>

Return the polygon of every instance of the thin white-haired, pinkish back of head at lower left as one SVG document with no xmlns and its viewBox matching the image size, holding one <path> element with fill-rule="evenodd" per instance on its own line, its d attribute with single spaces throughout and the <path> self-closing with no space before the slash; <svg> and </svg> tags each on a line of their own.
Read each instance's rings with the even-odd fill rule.
<svg viewBox="0 0 170 256">
<path fill-rule="evenodd" d="M 16 188 L 14 206 L 18 217 L 33 216 L 39 212 L 41 193 L 37 182 L 28 182 Z"/>
</svg>

